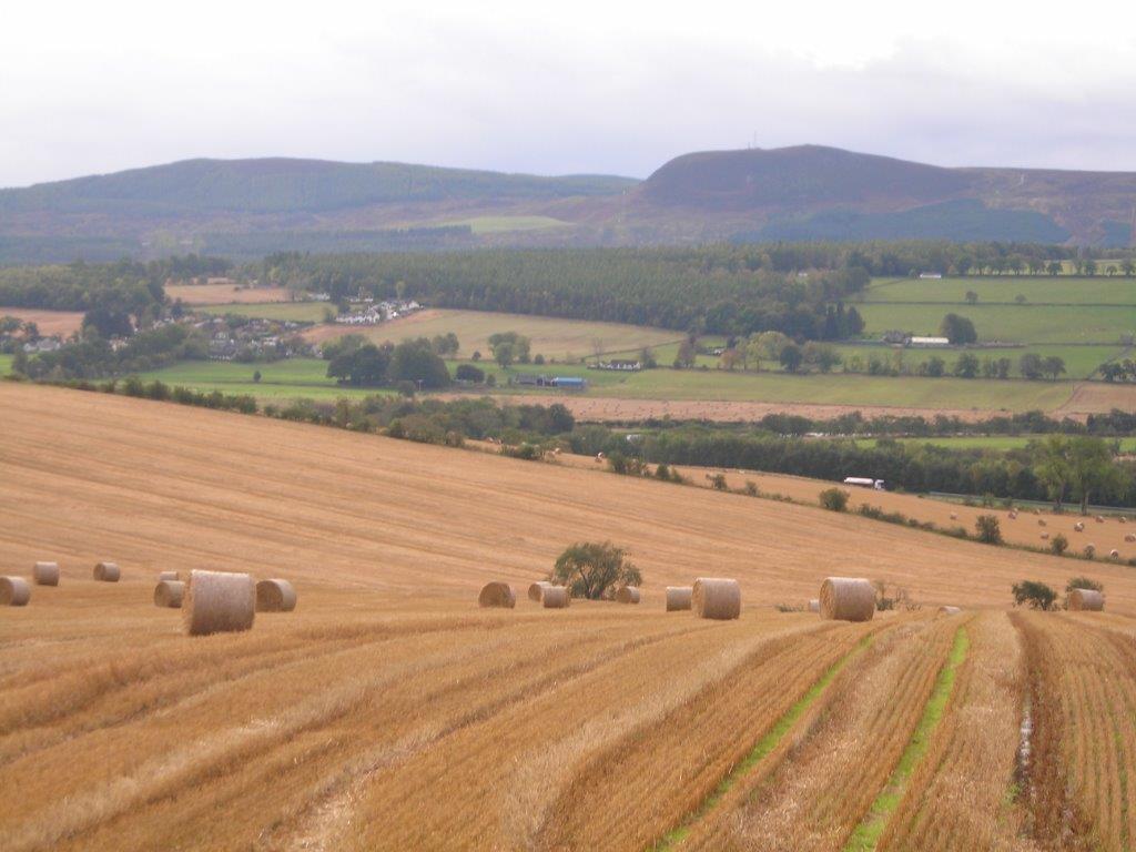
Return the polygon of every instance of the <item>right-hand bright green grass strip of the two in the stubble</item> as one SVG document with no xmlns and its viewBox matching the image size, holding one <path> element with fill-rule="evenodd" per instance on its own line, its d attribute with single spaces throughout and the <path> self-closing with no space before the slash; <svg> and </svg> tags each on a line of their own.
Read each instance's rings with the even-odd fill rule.
<svg viewBox="0 0 1136 852">
<path fill-rule="evenodd" d="M 935 679 L 935 688 L 932 690 L 927 705 L 924 708 L 922 718 L 919 719 L 919 724 L 908 742 L 908 747 L 903 750 L 900 762 L 892 771 L 892 777 L 887 779 L 887 784 L 876 796 L 876 801 L 871 803 L 868 816 L 857 826 L 852 836 L 849 837 L 849 842 L 844 844 L 844 852 L 874 852 L 876 849 L 892 812 L 899 807 L 907 792 L 911 774 L 927 753 L 930 737 L 942 720 L 946 702 L 954 690 L 959 667 L 967 659 L 968 648 L 970 648 L 970 637 L 966 629 L 960 627 L 954 633 L 951 653 L 946 658 L 946 663 L 939 669 L 938 677 Z"/>
</svg>

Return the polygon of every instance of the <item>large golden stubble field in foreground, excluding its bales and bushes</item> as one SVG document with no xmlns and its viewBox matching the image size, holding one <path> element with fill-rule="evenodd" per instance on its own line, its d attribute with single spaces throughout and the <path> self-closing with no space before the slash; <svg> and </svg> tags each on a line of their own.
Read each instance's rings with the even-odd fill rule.
<svg viewBox="0 0 1136 852">
<path fill-rule="evenodd" d="M 0 610 L 0 784 L 22 792 L 0 802 L 5 850 L 1127 843 L 1136 754 L 1100 747 L 1102 726 L 1127 742 L 1136 694 L 1127 568 L 1091 567 L 1106 613 L 1010 616 L 1011 582 L 1088 566 L 106 394 L 0 384 L 0 570 L 62 567 Z M 486 579 L 523 586 L 608 537 L 644 571 L 638 607 L 476 607 Z M 663 612 L 711 553 L 741 619 Z M 109 558 L 123 580 L 90 579 Z M 289 578 L 300 604 L 186 637 L 150 596 L 158 570 L 198 567 Z M 833 573 L 969 610 L 774 609 Z M 1027 694 L 1053 710 L 1013 796 Z M 1075 782 L 1068 826 L 1035 813 L 1051 778 Z M 849 845 L 864 832 L 878 844 Z"/>
</svg>

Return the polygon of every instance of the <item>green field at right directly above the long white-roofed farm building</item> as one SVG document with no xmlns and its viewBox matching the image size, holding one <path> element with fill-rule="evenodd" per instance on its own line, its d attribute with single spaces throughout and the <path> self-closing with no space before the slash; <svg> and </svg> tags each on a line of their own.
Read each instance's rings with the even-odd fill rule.
<svg viewBox="0 0 1136 852">
<path fill-rule="evenodd" d="M 864 303 L 864 334 L 878 336 L 891 329 L 913 334 L 938 334 L 946 314 L 967 317 L 980 342 L 1119 344 L 1122 335 L 1136 334 L 1136 307 L 983 304 L 927 306 Z"/>
</svg>

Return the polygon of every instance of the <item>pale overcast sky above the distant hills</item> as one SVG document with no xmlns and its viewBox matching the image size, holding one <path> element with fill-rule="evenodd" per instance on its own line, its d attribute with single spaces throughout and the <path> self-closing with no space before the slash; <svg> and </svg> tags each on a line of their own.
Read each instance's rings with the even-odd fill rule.
<svg viewBox="0 0 1136 852">
<path fill-rule="evenodd" d="M 1136 2 L 10 2 L 0 186 L 191 157 L 1136 170 Z M 548 8 L 542 8 L 548 7 Z"/>
</svg>

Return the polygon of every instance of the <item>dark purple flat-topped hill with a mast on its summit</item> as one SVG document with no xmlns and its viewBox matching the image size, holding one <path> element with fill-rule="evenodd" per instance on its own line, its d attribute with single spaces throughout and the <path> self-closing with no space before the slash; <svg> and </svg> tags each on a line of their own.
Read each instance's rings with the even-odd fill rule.
<svg viewBox="0 0 1136 852">
<path fill-rule="evenodd" d="M 1136 223 L 1136 174 L 943 168 L 796 145 L 677 157 L 634 199 L 643 216 L 701 214 L 710 217 L 708 229 L 733 226 L 738 240 L 1127 245 Z"/>
</svg>

